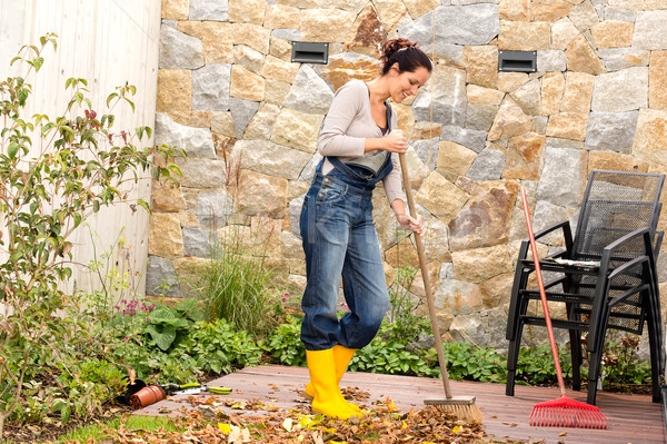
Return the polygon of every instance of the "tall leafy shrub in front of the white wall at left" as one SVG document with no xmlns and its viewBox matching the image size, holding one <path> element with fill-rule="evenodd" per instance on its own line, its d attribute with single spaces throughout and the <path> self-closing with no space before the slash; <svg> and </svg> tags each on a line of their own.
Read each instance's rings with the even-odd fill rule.
<svg viewBox="0 0 667 444">
<path fill-rule="evenodd" d="M 48 366 L 48 358 L 62 358 L 71 349 L 76 319 L 67 309 L 76 299 L 59 284 L 72 274 L 73 230 L 102 206 L 126 203 L 148 209 L 143 200 L 129 201 L 130 185 L 139 181 L 141 170 L 150 169 L 156 179 L 180 176 L 170 159 L 182 151 L 137 145 L 150 137 L 150 128 L 113 131 L 111 111 L 121 102 L 133 109 L 133 86 L 109 95 L 109 114 L 99 116 L 87 97 L 87 80 L 70 78 L 62 115 L 24 116 L 32 95 L 27 79 L 41 68 L 48 46 L 57 48 L 56 34 L 40 38 L 40 47 L 23 47 L 12 63 L 26 72 L 0 82 L 0 214 L 7 227 L 0 237 L 0 254 L 7 257 L 0 264 L 0 436 L 21 403 L 32 356 L 40 355 Z"/>
</svg>

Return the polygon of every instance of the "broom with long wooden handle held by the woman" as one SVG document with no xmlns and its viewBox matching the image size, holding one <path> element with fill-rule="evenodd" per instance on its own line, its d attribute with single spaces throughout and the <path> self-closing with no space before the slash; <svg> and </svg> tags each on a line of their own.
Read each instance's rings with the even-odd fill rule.
<svg viewBox="0 0 667 444">
<path fill-rule="evenodd" d="M 415 208 L 415 200 L 412 198 L 412 189 L 410 188 L 410 178 L 408 175 L 408 165 L 404 154 L 399 154 L 400 169 L 402 170 L 404 187 L 406 189 L 406 197 L 408 198 L 408 207 L 410 215 L 417 217 L 417 210 Z M 444 410 L 451 412 L 459 420 L 465 422 L 477 422 L 481 423 L 482 416 L 479 407 L 475 405 L 475 396 L 451 396 L 451 388 L 449 387 L 449 375 L 447 373 L 447 366 L 445 365 L 445 354 L 442 352 L 442 344 L 440 337 L 440 329 L 438 328 L 436 317 L 436 306 L 434 303 L 434 292 L 426 267 L 426 256 L 424 254 L 424 244 L 421 241 L 421 235 L 415 233 L 415 244 L 417 245 L 417 255 L 419 256 L 419 266 L 421 268 L 421 278 L 424 279 L 424 289 L 426 290 L 426 300 L 428 303 L 428 314 L 430 316 L 431 328 L 434 332 L 434 338 L 436 341 L 435 346 L 438 352 L 438 363 L 440 365 L 440 374 L 442 375 L 442 384 L 445 386 L 445 399 L 425 399 L 424 403 L 427 405 L 438 405 Z"/>
</svg>

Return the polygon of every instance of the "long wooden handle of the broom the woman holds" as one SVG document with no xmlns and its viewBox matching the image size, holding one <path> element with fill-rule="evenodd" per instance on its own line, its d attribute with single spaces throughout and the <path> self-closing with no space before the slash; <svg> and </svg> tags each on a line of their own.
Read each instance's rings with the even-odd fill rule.
<svg viewBox="0 0 667 444">
<path fill-rule="evenodd" d="M 402 171 L 404 188 L 408 198 L 408 208 L 410 216 L 417 218 L 417 208 L 412 198 L 412 188 L 410 188 L 410 176 L 408 175 L 408 164 L 404 154 L 399 154 L 400 169 Z M 426 302 L 428 304 L 428 314 L 430 316 L 431 329 L 434 330 L 434 339 L 436 351 L 438 352 L 438 363 L 440 365 L 440 374 L 442 375 L 442 385 L 445 386 L 445 396 L 451 399 L 451 388 L 449 387 L 449 375 L 445 363 L 445 353 L 442 352 L 442 338 L 440 337 L 440 328 L 438 328 L 438 317 L 436 314 L 436 304 L 434 302 L 434 289 L 431 287 L 430 277 L 426 267 L 426 255 L 424 254 L 424 243 L 421 235 L 415 233 L 415 244 L 417 245 L 417 255 L 419 256 L 419 267 L 421 268 L 421 278 L 424 279 L 424 289 L 426 290 Z"/>
</svg>

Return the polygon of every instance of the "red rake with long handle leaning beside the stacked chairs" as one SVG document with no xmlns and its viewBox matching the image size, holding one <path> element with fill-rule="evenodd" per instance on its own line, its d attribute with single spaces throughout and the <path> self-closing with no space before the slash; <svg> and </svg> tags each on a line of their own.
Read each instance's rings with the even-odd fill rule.
<svg viewBox="0 0 667 444">
<path fill-rule="evenodd" d="M 526 226 L 528 227 L 528 238 L 530 239 L 530 250 L 532 251 L 537 286 L 539 287 L 539 296 L 542 303 L 547 332 L 549 333 L 549 343 L 551 345 L 551 355 L 554 356 L 554 364 L 556 365 L 558 387 L 560 388 L 559 398 L 538 403 L 532 406 L 532 411 L 530 412 L 530 425 L 545 427 L 607 428 L 607 417 L 598 407 L 580 401 L 570 399 L 565 393 L 565 382 L 563 381 L 558 348 L 556 347 L 556 338 L 554 337 L 554 327 L 551 326 L 547 295 L 545 294 L 545 284 L 541 278 L 541 268 L 537 256 L 535 235 L 532 234 L 532 224 L 530 224 L 528 199 L 526 198 L 526 189 L 524 189 L 524 187 L 521 187 L 521 201 L 524 204 Z"/>
</svg>

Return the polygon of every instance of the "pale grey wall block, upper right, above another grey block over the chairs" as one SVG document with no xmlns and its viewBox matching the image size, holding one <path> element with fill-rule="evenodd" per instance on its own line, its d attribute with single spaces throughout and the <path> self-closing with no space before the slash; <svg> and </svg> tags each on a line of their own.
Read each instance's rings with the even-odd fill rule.
<svg viewBox="0 0 667 444">
<path fill-rule="evenodd" d="M 591 110 L 624 112 L 648 105 L 648 68 L 635 67 L 595 78 Z"/>
</svg>

